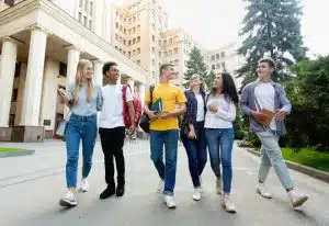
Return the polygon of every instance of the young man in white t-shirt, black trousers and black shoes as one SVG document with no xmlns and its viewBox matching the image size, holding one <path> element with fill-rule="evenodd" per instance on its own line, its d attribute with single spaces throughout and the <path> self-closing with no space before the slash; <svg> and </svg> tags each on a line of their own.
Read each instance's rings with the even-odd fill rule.
<svg viewBox="0 0 329 226">
<path fill-rule="evenodd" d="M 101 193 L 100 199 L 104 200 L 116 193 L 116 196 L 124 195 L 125 192 L 125 159 L 123 155 L 123 144 L 125 138 L 125 123 L 123 108 L 128 106 L 131 122 L 131 133 L 135 131 L 133 95 L 126 89 L 126 103 L 123 102 L 123 86 L 117 83 L 120 71 L 116 63 L 110 61 L 103 66 L 103 76 L 107 84 L 102 88 L 103 106 L 100 115 L 100 136 L 104 152 L 105 181 L 107 188 Z M 115 158 L 117 187 L 115 190 L 114 162 Z"/>
</svg>

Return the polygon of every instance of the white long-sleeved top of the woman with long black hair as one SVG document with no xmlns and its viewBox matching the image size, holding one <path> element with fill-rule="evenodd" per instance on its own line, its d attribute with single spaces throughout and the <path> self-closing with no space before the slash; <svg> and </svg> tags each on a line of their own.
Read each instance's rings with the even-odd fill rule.
<svg viewBox="0 0 329 226">
<path fill-rule="evenodd" d="M 219 97 L 208 97 L 206 103 L 207 112 L 205 116 L 205 128 L 231 128 L 232 122 L 236 120 L 236 106 L 229 101 L 227 102 L 224 95 Z M 217 112 L 212 112 L 208 110 L 209 105 L 217 105 Z"/>
</svg>

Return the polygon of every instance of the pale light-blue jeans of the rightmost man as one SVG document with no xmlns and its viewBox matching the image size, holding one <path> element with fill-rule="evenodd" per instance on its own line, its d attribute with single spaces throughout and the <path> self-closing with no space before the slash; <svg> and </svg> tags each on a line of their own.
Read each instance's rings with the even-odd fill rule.
<svg viewBox="0 0 329 226">
<path fill-rule="evenodd" d="M 261 147 L 261 166 L 259 168 L 258 178 L 260 181 L 265 182 L 271 167 L 275 172 L 285 189 L 293 189 L 294 181 L 292 180 L 286 163 L 282 157 L 281 148 L 279 146 L 279 136 L 272 131 L 257 133 Z"/>
</svg>

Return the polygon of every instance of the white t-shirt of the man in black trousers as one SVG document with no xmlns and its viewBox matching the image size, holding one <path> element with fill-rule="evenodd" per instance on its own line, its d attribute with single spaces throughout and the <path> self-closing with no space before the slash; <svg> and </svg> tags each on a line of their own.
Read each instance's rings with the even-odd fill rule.
<svg viewBox="0 0 329 226">
<path fill-rule="evenodd" d="M 101 128 L 125 126 L 123 117 L 122 84 L 107 84 L 102 88 L 103 106 L 100 115 Z M 133 101 L 129 88 L 126 89 L 126 101 Z"/>
</svg>

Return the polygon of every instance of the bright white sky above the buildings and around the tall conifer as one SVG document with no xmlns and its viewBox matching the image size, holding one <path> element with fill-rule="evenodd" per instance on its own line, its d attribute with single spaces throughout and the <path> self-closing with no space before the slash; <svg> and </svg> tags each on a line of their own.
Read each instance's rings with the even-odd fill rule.
<svg viewBox="0 0 329 226">
<path fill-rule="evenodd" d="M 129 0 L 113 0 L 124 3 Z M 169 14 L 170 27 L 182 27 L 206 49 L 235 41 L 245 15 L 242 0 L 159 0 Z M 329 54 L 329 1 L 302 0 L 302 35 L 308 56 Z"/>
</svg>

